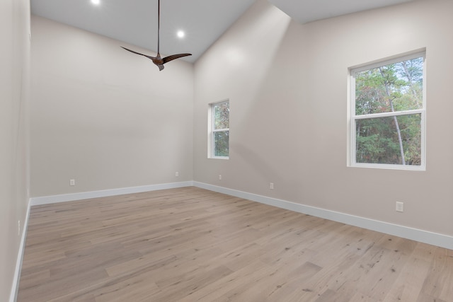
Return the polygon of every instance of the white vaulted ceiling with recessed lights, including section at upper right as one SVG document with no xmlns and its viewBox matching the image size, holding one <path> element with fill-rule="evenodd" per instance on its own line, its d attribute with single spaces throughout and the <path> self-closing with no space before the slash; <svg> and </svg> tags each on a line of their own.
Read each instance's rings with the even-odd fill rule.
<svg viewBox="0 0 453 302">
<path fill-rule="evenodd" d="M 255 0 L 162 0 L 161 54 L 195 62 Z M 300 23 L 413 0 L 268 0 Z M 157 0 L 31 0 L 33 14 L 157 50 Z M 185 37 L 176 37 L 184 30 Z M 131 47 L 132 48 L 132 47 Z"/>
</svg>

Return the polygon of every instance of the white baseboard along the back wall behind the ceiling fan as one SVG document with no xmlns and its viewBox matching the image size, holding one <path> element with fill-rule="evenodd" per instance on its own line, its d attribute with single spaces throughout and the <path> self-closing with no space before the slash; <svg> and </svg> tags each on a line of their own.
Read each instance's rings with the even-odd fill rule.
<svg viewBox="0 0 453 302">
<path fill-rule="evenodd" d="M 133 194 L 141 192 L 149 192 L 156 190 L 174 189 L 177 187 L 191 187 L 193 186 L 192 181 L 187 182 L 171 182 L 159 185 L 143 185 L 140 187 L 124 187 L 120 189 L 101 190 L 92 192 L 80 192 L 62 195 L 52 195 L 44 197 L 33 197 L 31 199 L 31 206 L 38 206 L 40 204 L 55 204 L 57 202 L 72 202 L 74 200 L 90 199 L 97 197 L 108 197 L 122 194 Z"/>
</svg>

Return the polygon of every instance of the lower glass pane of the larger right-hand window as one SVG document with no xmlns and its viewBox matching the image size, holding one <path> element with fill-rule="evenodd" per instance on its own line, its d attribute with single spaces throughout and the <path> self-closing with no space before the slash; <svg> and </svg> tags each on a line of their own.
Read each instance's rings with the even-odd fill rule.
<svg viewBox="0 0 453 302">
<path fill-rule="evenodd" d="M 420 114 L 356 120 L 355 130 L 356 163 L 421 165 Z"/>
</svg>

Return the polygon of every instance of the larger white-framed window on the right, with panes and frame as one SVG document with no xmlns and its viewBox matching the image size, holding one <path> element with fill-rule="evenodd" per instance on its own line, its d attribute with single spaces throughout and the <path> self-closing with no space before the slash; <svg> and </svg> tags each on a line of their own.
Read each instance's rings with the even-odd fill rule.
<svg viewBox="0 0 453 302">
<path fill-rule="evenodd" d="M 350 165 L 424 170 L 425 53 L 350 74 Z"/>
</svg>

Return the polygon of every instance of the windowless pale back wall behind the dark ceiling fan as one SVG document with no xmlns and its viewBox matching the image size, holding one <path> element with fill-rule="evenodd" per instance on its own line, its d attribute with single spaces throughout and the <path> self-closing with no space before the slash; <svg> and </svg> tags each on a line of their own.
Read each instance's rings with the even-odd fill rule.
<svg viewBox="0 0 453 302">
<path fill-rule="evenodd" d="M 38 16 L 32 34 L 33 197 L 193 179 L 192 64 L 159 71 L 120 45 L 147 50 Z"/>
</svg>

